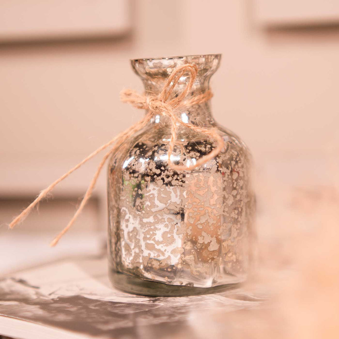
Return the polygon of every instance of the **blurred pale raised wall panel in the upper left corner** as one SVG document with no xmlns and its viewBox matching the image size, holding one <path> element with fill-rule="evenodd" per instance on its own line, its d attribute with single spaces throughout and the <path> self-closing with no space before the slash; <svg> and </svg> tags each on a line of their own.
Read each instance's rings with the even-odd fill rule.
<svg viewBox="0 0 339 339">
<path fill-rule="evenodd" d="M 117 36 L 130 28 L 126 0 L 0 1 L 0 42 Z"/>
</svg>

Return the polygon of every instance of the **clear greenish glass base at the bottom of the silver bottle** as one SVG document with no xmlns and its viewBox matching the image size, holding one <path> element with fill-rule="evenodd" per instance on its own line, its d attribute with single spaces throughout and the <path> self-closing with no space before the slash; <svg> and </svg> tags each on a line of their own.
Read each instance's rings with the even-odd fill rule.
<svg viewBox="0 0 339 339">
<path fill-rule="evenodd" d="M 144 280 L 132 275 L 109 270 L 109 279 L 114 287 L 127 293 L 146 296 L 184 297 L 192 295 L 218 293 L 239 287 L 240 283 L 224 284 L 213 287 L 192 287 L 168 285 L 162 282 Z"/>
</svg>

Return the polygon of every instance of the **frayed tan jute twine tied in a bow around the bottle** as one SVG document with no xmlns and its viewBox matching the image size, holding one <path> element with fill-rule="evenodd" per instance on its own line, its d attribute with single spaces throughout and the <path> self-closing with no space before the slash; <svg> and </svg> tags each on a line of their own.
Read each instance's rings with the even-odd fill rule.
<svg viewBox="0 0 339 339">
<path fill-rule="evenodd" d="M 216 129 L 214 128 L 204 128 L 199 127 L 196 125 L 193 125 L 191 123 L 185 123 L 181 119 L 177 117 L 175 114 L 176 110 L 179 107 L 188 107 L 192 106 L 198 103 L 205 102 L 212 98 L 213 94 L 210 90 L 197 95 L 195 97 L 185 99 L 187 93 L 191 90 L 194 81 L 197 76 L 197 67 L 195 65 L 187 64 L 182 65 L 173 70 L 171 75 L 167 78 L 165 85 L 158 95 L 140 95 L 136 93 L 135 91 L 131 89 L 124 89 L 120 93 L 120 100 L 122 102 L 127 102 L 129 104 L 132 104 L 134 107 L 146 109 L 147 113 L 144 116 L 142 120 L 137 122 L 136 124 L 132 125 L 131 127 L 127 128 L 124 132 L 118 134 L 115 136 L 111 141 L 107 142 L 106 144 L 99 147 L 96 151 L 91 153 L 88 157 L 83 159 L 81 162 L 79 162 L 76 166 L 71 168 L 67 173 L 65 173 L 63 176 L 61 176 L 59 179 L 54 181 L 51 185 L 49 185 L 47 188 L 42 190 L 38 197 L 24 210 L 19 214 L 17 217 L 13 219 L 13 221 L 9 224 L 9 228 L 15 227 L 19 222 L 23 221 L 25 217 L 33 210 L 35 206 L 38 205 L 38 203 L 45 198 L 49 192 L 53 190 L 53 188 L 63 179 L 68 177 L 71 173 L 73 173 L 76 169 L 78 169 L 81 165 L 83 165 L 85 162 L 87 162 L 89 159 L 93 158 L 95 155 L 103 151 L 103 149 L 112 146 L 113 147 L 104 155 L 103 159 L 101 160 L 94 177 L 89 184 L 87 191 L 76 211 L 71 221 L 69 221 L 68 225 L 59 233 L 59 235 L 51 242 L 51 246 L 55 246 L 60 238 L 71 228 L 71 226 L 74 224 L 75 220 L 83 210 L 85 204 L 87 203 L 88 199 L 91 197 L 93 189 L 95 187 L 95 184 L 97 182 L 97 179 L 99 177 L 99 174 L 106 162 L 106 160 L 111 156 L 113 153 L 115 153 L 119 147 L 122 146 L 124 141 L 131 137 L 134 133 L 140 131 L 144 126 L 146 126 L 149 123 L 149 120 L 154 115 L 163 115 L 167 116 L 170 119 L 171 122 L 171 139 L 169 142 L 169 147 L 167 151 L 167 157 L 168 157 L 168 165 L 173 168 L 176 171 L 190 171 L 196 167 L 199 167 L 206 163 L 207 161 L 211 160 L 212 158 L 216 157 L 220 151 L 223 148 L 223 140 L 217 133 Z M 179 79 L 186 73 L 190 74 L 189 81 L 183 91 L 175 98 L 169 99 L 171 97 L 171 94 L 173 92 L 174 87 L 178 83 Z M 212 140 L 216 142 L 216 147 L 208 154 L 203 156 L 202 158 L 198 159 L 195 164 L 192 164 L 190 166 L 185 165 L 176 165 L 171 160 L 171 155 L 174 150 L 176 136 L 177 136 L 177 128 L 178 126 L 184 126 L 187 128 L 190 128 L 192 131 L 197 133 L 203 133 L 210 137 Z"/>
</svg>

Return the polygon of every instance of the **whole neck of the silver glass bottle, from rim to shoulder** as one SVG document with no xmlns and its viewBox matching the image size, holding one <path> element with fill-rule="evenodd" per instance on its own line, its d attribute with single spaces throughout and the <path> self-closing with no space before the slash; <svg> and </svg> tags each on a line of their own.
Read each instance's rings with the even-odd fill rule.
<svg viewBox="0 0 339 339">
<path fill-rule="evenodd" d="M 187 93 L 187 98 L 202 94 L 209 89 L 210 78 L 217 70 L 219 63 L 219 54 L 132 60 L 133 69 L 141 77 L 146 95 L 147 93 L 159 94 L 174 68 L 184 64 L 196 65 L 198 68 L 197 77 L 191 91 Z M 186 74 L 179 79 L 171 94 L 172 98 L 178 96 L 185 89 L 189 77 Z M 190 107 L 178 108 L 176 114 L 186 123 L 200 126 L 214 124 L 210 100 Z M 166 117 L 156 115 L 151 119 L 151 123 L 166 123 L 166 120 L 168 120 Z"/>
</svg>

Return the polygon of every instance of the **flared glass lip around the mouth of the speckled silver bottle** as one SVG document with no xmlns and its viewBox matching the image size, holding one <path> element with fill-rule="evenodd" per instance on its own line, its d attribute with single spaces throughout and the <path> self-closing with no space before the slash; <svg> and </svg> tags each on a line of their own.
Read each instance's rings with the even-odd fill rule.
<svg viewBox="0 0 339 339">
<path fill-rule="evenodd" d="M 167 77 L 174 68 L 185 64 L 196 65 L 199 77 L 215 73 L 220 65 L 220 59 L 221 54 L 202 54 L 131 59 L 131 64 L 134 71 L 142 78 Z"/>
</svg>

